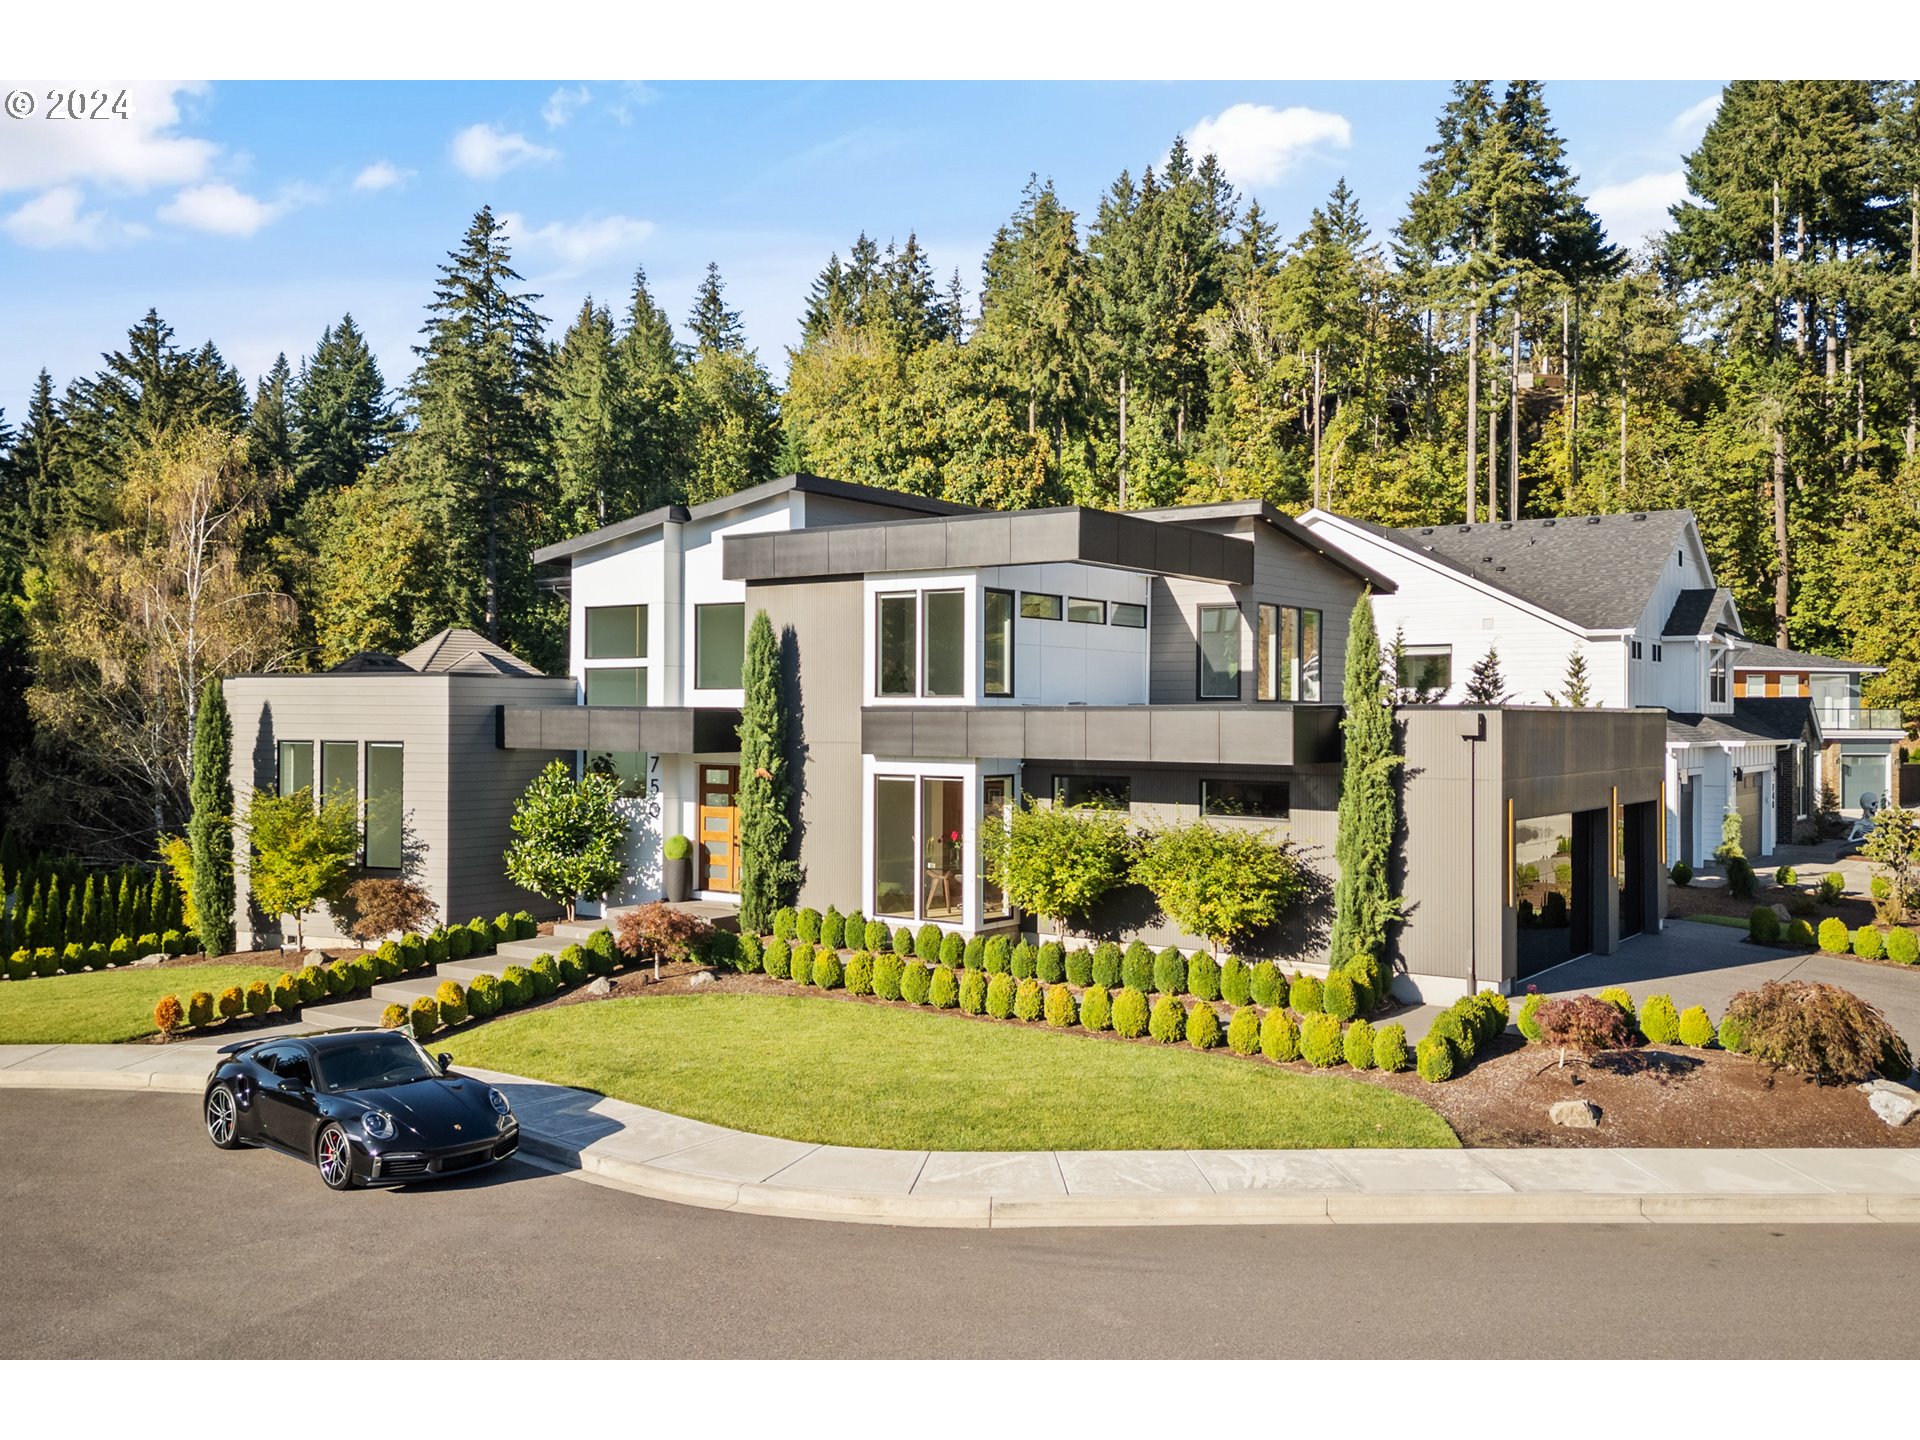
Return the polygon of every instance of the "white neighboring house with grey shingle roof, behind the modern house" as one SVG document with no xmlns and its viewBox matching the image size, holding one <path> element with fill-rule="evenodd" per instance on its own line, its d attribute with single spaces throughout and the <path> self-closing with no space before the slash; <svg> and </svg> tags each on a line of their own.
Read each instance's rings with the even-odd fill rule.
<svg viewBox="0 0 1920 1440">
<path fill-rule="evenodd" d="M 1580 655 L 1590 705 L 1667 710 L 1667 864 L 1709 860 L 1728 810 L 1749 858 L 1811 818 L 1822 726 L 1811 703 L 1784 716 L 1734 693 L 1749 641 L 1692 511 L 1407 530 L 1313 511 L 1302 524 L 1392 576 L 1375 611 L 1382 639 L 1404 637 L 1402 687 L 1459 703 L 1498 649 L 1509 703 L 1565 705 Z"/>
</svg>

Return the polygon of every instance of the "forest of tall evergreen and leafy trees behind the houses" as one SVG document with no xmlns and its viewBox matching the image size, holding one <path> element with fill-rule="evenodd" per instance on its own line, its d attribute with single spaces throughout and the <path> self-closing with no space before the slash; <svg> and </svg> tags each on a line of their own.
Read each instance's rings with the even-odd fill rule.
<svg viewBox="0 0 1920 1440">
<path fill-rule="evenodd" d="M 1534 81 L 1453 86 L 1392 225 L 1296 236 L 1175 140 L 1091 215 L 1035 177 L 943 284 L 912 230 L 797 296 L 780 388 L 708 267 L 563 326 L 482 209 L 413 371 L 351 315 L 250 390 L 150 311 L 0 415 L 0 808 L 152 858 L 207 676 L 445 624 L 564 668 L 532 549 L 789 470 L 1029 507 L 1263 497 L 1384 524 L 1690 507 L 1749 634 L 1920 720 L 1920 83 L 1726 88 L 1628 253 Z M 422 294 L 426 294 L 422 276 Z"/>
</svg>

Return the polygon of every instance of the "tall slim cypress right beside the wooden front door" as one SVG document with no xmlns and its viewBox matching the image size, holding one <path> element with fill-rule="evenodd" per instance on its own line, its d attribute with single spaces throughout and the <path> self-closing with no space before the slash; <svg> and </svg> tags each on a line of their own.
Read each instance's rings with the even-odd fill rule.
<svg viewBox="0 0 1920 1440">
<path fill-rule="evenodd" d="M 747 628 L 739 708 L 739 925 L 764 935 L 797 879 L 787 858 L 793 780 L 787 774 L 787 697 L 766 611 Z"/>
</svg>

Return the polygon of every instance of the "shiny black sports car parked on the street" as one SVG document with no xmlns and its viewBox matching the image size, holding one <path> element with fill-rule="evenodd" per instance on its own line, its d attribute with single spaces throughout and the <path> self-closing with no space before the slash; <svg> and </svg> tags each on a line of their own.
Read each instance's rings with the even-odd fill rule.
<svg viewBox="0 0 1920 1440">
<path fill-rule="evenodd" d="M 505 1160 L 520 1144 L 513 1104 L 451 1062 L 392 1029 L 227 1044 L 207 1077 L 207 1137 L 311 1160 L 334 1190 Z"/>
</svg>

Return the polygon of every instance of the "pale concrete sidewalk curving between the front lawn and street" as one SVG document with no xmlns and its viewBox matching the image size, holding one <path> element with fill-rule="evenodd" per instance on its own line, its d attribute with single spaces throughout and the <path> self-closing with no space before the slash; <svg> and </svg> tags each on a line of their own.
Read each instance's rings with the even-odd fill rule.
<svg viewBox="0 0 1920 1440">
<path fill-rule="evenodd" d="M 209 1054 L 4 1044 L 0 1089 L 198 1094 Z M 803 1144 L 518 1075 L 520 1152 L 657 1200 L 881 1225 L 1920 1221 L 1916 1150 L 1035 1150 Z"/>
</svg>

